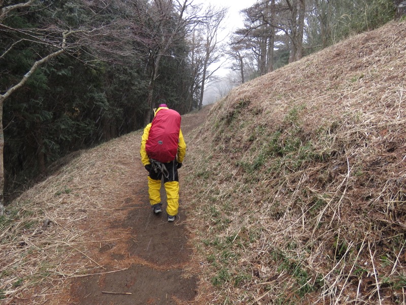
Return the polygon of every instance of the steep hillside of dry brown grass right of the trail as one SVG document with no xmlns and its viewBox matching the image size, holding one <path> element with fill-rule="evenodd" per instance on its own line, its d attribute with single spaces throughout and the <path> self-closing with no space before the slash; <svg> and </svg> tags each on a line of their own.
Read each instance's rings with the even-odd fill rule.
<svg viewBox="0 0 406 305">
<path fill-rule="evenodd" d="M 405 50 L 392 22 L 211 109 L 185 179 L 211 303 L 405 303 Z"/>
</svg>

